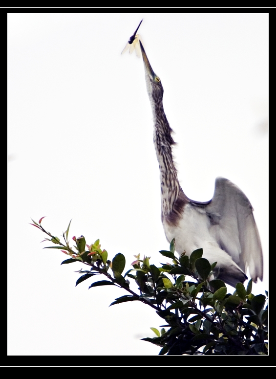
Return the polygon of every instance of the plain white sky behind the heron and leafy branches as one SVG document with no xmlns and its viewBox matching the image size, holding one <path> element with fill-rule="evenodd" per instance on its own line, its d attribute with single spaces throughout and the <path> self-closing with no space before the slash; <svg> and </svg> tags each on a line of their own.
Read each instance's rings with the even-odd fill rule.
<svg viewBox="0 0 276 379">
<path fill-rule="evenodd" d="M 30 217 L 60 236 L 100 238 L 110 257 L 168 249 L 139 34 L 164 87 L 179 178 L 193 200 L 232 180 L 255 208 L 268 289 L 268 14 L 10 14 L 9 355 L 156 355 L 162 325 L 126 294 L 77 287 L 81 264 L 42 250 Z M 48 244 L 49 245 L 49 244 Z M 73 245 L 73 244 L 72 244 Z M 105 278 L 103 278 L 105 279 Z"/>
</svg>

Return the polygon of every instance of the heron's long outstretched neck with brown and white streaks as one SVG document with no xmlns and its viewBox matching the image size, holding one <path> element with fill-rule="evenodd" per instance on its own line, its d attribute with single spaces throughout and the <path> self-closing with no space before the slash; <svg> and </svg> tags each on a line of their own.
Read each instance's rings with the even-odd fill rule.
<svg viewBox="0 0 276 379">
<path fill-rule="evenodd" d="M 160 169 L 162 219 L 173 209 L 175 201 L 182 191 L 177 179 L 171 147 L 175 144 L 171 137 L 172 130 L 164 113 L 162 101 L 151 101 L 154 132 L 153 142 Z"/>
</svg>

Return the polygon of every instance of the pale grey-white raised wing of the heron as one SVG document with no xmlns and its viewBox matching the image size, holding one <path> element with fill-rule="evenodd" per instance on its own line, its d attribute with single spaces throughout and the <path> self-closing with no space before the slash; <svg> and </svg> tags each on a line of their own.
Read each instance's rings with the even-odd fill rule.
<svg viewBox="0 0 276 379">
<path fill-rule="evenodd" d="M 212 201 L 205 206 L 211 231 L 218 244 L 245 272 L 262 280 L 263 257 L 253 207 L 245 194 L 230 180 L 216 178 Z"/>
</svg>

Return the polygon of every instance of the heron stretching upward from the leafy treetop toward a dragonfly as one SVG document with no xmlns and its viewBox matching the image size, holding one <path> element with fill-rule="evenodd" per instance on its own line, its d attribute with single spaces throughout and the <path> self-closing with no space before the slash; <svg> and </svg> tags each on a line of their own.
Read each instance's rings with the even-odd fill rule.
<svg viewBox="0 0 276 379">
<path fill-rule="evenodd" d="M 144 61 L 147 91 L 153 114 L 153 142 L 160 170 L 161 221 L 167 240 L 175 239 L 179 255 L 190 256 L 203 249 L 203 258 L 216 264 L 216 277 L 235 287 L 263 276 L 263 257 L 253 207 L 245 194 L 230 180 L 216 178 L 210 201 L 194 201 L 183 192 L 172 157 L 175 144 L 163 108 L 161 80 L 149 64 L 139 41 Z"/>
</svg>

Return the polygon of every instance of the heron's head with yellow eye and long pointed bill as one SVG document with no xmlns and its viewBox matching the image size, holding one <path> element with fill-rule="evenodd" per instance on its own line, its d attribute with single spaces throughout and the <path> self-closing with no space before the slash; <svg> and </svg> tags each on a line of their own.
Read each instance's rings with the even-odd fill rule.
<svg viewBox="0 0 276 379">
<path fill-rule="evenodd" d="M 154 73 L 153 69 L 151 68 L 149 64 L 149 59 L 147 57 L 146 51 L 141 43 L 139 41 L 141 51 L 142 51 L 142 57 L 144 61 L 144 67 L 145 67 L 145 74 L 146 74 L 146 83 L 147 83 L 147 90 L 149 94 L 149 99 L 153 100 L 156 104 L 158 101 L 162 101 L 163 98 L 163 86 L 161 84 L 160 78 Z"/>
</svg>

